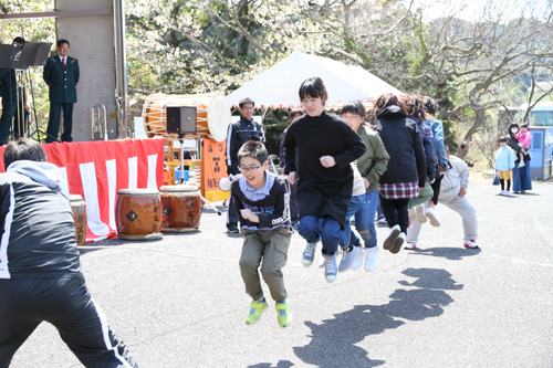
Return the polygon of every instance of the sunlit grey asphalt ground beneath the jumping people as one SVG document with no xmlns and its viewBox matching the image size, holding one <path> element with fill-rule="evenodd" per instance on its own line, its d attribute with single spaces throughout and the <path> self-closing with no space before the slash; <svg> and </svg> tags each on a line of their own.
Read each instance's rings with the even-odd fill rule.
<svg viewBox="0 0 553 368">
<path fill-rule="evenodd" d="M 442 225 L 425 224 L 417 250 L 382 250 L 388 230 L 379 227 L 376 271 L 341 273 L 332 284 L 319 252 L 302 265 L 294 233 L 283 269 L 286 328 L 272 301 L 244 325 L 242 239 L 226 233 L 225 213 L 204 211 L 196 233 L 104 241 L 109 249 L 82 253 L 82 269 L 140 367 L 553 367 L 553 183 L 533 186 L 505 198 L 471 185 L 480 250 L 462 246 L 460 217 L 438 206 Z M 80 366 L 43 323 L 11 367 Z"/>
</svg>

